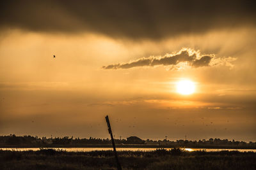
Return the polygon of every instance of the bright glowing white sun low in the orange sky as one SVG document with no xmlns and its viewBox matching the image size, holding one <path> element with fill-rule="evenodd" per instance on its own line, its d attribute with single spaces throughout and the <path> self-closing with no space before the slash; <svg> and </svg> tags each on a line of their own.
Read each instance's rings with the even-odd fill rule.
<svg viewBox="0 0 256 170">
<path fill-rule="evenodd" d="M 177 82 L 176 89 L 179 94 L 193 94 L 195 92 L 195 83 L 190 80 L 182 80 Z"/>
</svg>

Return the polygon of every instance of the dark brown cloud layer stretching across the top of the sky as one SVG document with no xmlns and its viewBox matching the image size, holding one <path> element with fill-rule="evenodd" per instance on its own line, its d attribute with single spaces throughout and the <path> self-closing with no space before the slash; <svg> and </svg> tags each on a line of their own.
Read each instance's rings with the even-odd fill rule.
<svg viewBox="0 0 256 170">
<path fill-rule="evenodd" d="M 166 38 L 255 26 L 255 1 L 1 1 L 0 27 L 98 32 L 117 38 Z"/>
</svg>

